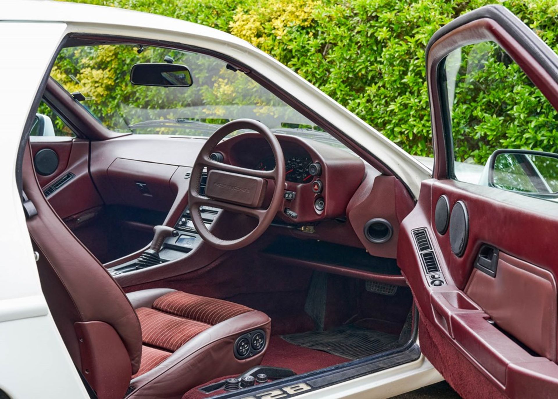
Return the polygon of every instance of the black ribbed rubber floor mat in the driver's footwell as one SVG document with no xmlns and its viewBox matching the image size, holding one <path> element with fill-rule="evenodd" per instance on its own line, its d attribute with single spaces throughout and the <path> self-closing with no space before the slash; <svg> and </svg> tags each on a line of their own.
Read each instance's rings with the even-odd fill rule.
<svg viewBox="0 0 558 399">
<path fill-rule="evenodd" d="M 399 335 L 345 325 L 329 331 L 282 335 L 291 344 L 323 350 L 347 359 L 362 359 L 400 346 Z"/>
</svg>

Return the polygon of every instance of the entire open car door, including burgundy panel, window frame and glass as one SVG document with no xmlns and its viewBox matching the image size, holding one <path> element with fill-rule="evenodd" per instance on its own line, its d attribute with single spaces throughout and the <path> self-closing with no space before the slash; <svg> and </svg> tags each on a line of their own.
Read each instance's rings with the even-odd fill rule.
<svg viewBox="0 0 558 399">
<path fill-rule="evenodd" d="M 397 251 L 422 353 L 466 398 L 558 397 L 556 164 L 533 177 L 518 158 L 533 151 L 509 151 L 517 168 L 497 184 L 502 154 L 492 154 L 556 152 L 558 57 L 506 8 L 487 6 L 436 32 L 426 66 L 433 178 Z M 527 187 L 537 179 L 545 193 Z"/>
</svg>

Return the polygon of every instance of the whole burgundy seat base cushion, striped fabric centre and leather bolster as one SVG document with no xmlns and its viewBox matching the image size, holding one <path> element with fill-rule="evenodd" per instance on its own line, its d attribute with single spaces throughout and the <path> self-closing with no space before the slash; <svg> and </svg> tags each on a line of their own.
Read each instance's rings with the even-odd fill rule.
<svg viewBox="0 0 558 399">
<path fill-rule="evenodd" d="M 140 371 L 131 381 L 129 398 L 180 398 L 212 378 L 239 374 L 261 363 L 270 339 L 271 320 L 243 305 L 180 291 L 162 296 L 136 292 L 134 298 L 150 297 L 152 307 L 137 308 L 142 328 Z M 252 330 L 266 333 L 262 352 L 248 359 L 234 356 L 237 338 Z"/>
</svg>

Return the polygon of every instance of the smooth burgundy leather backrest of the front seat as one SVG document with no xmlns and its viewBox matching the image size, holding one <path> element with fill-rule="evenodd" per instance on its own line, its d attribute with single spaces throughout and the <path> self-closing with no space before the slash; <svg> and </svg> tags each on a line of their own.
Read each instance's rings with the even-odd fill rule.
<svg viewBox="0 0 558 399">
<path fill-rule="evenodd" d="M 37 267 L 41 286 L 76 367 L 82 368 L 84 350 L 89 351 L 88 364 L 91 357 L 98 357 L 100 353 L 90 353 L 91 348 L 84 349 L 83 334 L 76 330 L 82 331 L 87 322 L 102 322 L 116 331 L 117 335 L 111 333 L 109 336 L 122 341 L 131 363 L 131 373 L 136 373 L 140 368 L 142 350 L 141 327 L 136 312 L 118 283 L 46 200 L 35 176 L 30 146 L 27 146 L 23 158 L 22 177 L 23 189 L 37 209 L 37 215 L 27 220 L 27 228 L 40 255 Z M 96 334 L 95 331 L 100 330 L 94 328 L 88 334 Z M 97 338 L 93 337 L 90 342 L 107 341 L 106 335 Z M 107 357 L 113 355 L 106 354 Z M 86 374 L 85 377 L 88 378 Z"/>
</svg>

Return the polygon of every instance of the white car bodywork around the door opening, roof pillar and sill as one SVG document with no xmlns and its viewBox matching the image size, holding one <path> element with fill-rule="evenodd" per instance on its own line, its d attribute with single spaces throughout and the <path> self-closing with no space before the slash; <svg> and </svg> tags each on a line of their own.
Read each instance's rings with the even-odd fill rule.
<svg viewBox="0 0 558 399">
<path fill-rule="evenodd" d="M 57 2 L 0 2 L 3 187 L 0 244 L 0 389 L 13 399 L 88 398 L 49 313 L 18 195 L 16 158 L 37 92 L 68 34 L 179 42 L 242 59 L 368 149 L 415 197 L 430 170 L 271 56 L 232 35 L 195 23 L 116 8 Z M 22 78 L 18 78 L 22 77 Z M 61 248 L 60 250 L 64 250 Z M 442 377 L 421 355 L 415 362 L 300 397 L 390 397 Z"/>
</svg>

